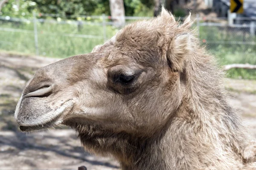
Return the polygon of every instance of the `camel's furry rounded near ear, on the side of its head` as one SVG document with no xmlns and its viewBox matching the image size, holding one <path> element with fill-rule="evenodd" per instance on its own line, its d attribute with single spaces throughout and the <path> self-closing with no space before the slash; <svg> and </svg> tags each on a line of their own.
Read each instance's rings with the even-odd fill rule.
<svg viewBox="0 0 256 170">
<path fill-rule="evenodd" d="M 174 71 L 182 71 L 184 62 L 192 53 L 190 36 L 189 33 L 177 35 L 169 45 L 167 60 Z"/>
</svg>

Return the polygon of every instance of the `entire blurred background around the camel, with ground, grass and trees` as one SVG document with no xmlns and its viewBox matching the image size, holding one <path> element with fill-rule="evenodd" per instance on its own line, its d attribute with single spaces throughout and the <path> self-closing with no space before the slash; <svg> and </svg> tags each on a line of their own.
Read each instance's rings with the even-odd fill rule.
<svg viewBox="0 0 256 170">
<path fill-rule="evenodd" d="M 20 133 L 13 114 L 38 68 L 89 53 L 161 6 L 180 22 L 191 11 L 201 44 L 226 73 L 230 104 L 256 137 L 255 0 L 0 0 L 0 170 L 119 169 L 112 158 L 82 150 L 67 127 Z"/>
</svg>

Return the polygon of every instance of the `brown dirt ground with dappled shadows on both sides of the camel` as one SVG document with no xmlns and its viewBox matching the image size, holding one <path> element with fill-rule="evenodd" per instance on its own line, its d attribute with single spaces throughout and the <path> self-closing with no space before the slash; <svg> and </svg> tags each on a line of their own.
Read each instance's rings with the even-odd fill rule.
<svg viewBox="0 0 256 170">
<path fill-rule="evenodd" d="M 21 133 L 13 118 L 22 88 L 35 71 L 58 59 L 0 52 L 0 170 L 65 169 L 118 170 L 112 158 L 85 152 L 75 131 L 63 126 Z M 226 79 L 229 102 L 256 138 L 256 81 Z"/>
</svg>

